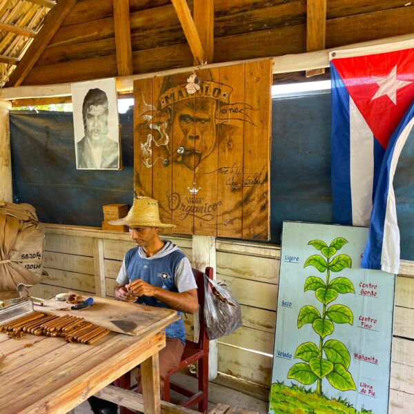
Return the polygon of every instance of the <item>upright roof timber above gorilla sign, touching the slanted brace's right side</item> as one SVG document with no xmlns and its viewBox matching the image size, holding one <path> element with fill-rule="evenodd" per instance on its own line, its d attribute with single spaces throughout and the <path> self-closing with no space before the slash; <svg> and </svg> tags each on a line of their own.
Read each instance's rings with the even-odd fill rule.
<svg viewBox="0 0 414 414">
<path fill-rule="evenodd" d="M 204 49 L 204 59 L 214 58 L 214 0 L 194 0 L 194 23 Z"/>
</svg>

